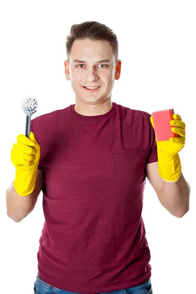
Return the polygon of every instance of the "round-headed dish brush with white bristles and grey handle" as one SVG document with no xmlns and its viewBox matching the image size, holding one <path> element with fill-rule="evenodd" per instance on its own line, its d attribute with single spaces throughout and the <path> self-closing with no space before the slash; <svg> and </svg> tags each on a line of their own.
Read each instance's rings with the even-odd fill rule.
<svg viewBox="0 0 196 294">
<path fill-rule="evenodd" d="M 28 96 L 26 98 L 25 96 L 20 105 L 26 114 L 25 136 L 29 138 L 31 115 L 37 111 L 39 103 L 34 97 Z"/>
</svg>

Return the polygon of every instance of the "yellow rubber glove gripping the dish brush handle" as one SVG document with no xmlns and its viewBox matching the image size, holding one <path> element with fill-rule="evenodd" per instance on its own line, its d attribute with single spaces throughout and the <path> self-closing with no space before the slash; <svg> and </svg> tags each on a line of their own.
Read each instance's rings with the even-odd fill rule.
<svg viewBox="0 0 196 294">
<path fill-rule="evenodd" d="M 11 162 L 16 168 L 14 187 L 20 196 L 29 195 L 35 189 L 40 160 L 40 146 L 32 132 L 29 137 L 18 135 L 11 150 Z"/>
</svg>

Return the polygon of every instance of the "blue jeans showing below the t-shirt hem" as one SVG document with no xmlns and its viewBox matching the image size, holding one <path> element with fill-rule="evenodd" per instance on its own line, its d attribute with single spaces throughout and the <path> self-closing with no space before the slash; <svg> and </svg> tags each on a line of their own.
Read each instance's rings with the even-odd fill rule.
<svg viewBox="0 0 196 294">
<path fill-rule="evenodd" d="M 34 283 L 34 294 L 79 294 L 53 287 L 40 279 L 38 273 Z M 150 279 L 143 285 L 100 294 L 152 294 Z"/>
</svg>

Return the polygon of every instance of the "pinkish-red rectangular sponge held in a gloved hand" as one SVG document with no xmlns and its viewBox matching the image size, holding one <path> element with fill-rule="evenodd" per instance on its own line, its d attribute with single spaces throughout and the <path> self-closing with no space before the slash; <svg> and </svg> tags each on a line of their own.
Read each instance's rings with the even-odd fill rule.
<svg viewBox="0 0 196 294">
<path fill-rule="evenodd" d="M 152 112 L 154 130 L 157 141 L 168 141 L 171 137 L 179 137 L 172 132 L 170 121 L 173 120 L 173 109 L 166 109 Z"/>
</svg>

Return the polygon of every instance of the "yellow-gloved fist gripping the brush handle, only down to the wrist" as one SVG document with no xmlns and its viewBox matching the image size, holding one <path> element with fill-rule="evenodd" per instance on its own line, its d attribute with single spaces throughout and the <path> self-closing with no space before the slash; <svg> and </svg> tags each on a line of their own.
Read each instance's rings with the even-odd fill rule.
<svg viewBox="0 0 196 294">
<path fill-rule="evenodd" d="M 30 132 L 30 138 L 25 135 L 18 135 L 17 143 L 11 150 L 11 162 L 17 170 L 33 172 L 40 160 L 40 146 L 35 136 Z"/>
</svg>

